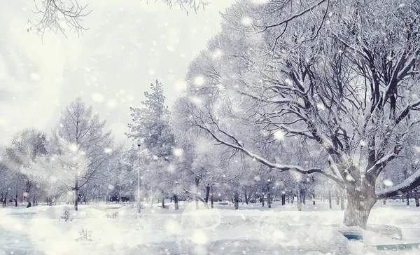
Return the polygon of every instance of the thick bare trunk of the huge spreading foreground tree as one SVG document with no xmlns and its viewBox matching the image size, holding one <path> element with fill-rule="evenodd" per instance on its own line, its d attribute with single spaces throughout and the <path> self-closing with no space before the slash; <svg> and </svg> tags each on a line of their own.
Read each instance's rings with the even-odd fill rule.
<svg viewBox="0 0 420 255">
<path fill-rule="evenodd" d="M 365 229 L 370 210 L 377 202 L 374 185 L 362 183 L 360 186 L 347 186 L 347 207 L 344 211 L 344 224 Z"/>
</svg>

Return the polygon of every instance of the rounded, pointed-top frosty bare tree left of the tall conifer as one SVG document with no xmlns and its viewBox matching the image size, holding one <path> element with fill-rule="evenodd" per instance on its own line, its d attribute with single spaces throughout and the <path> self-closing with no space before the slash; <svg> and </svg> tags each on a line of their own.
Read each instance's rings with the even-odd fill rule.
<svg viewBox="0 0 420 255">
<path fill-rule="evenodd" d="M 105 132 L 104 126 L 105 121 L 92 114 L 92 107 L 85 106 L 78 97 L 62 111 L 52 130 L 50 155 L 33 166 L 44 177 L 73 192 L 76 210 L 80 189 L 98 178 L 118 151 L 111 132 Z"/>
</svg>

